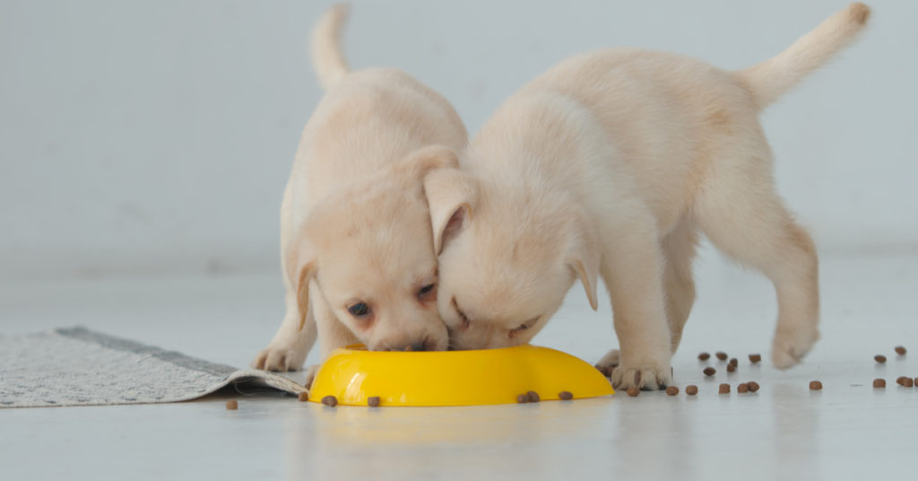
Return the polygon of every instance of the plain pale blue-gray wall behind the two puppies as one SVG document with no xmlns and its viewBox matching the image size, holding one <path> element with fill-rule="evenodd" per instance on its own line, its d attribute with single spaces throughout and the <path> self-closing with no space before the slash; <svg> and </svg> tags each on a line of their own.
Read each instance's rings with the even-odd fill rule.
<svg viewBox="0 0 918 481">
<path fill-rule="evenodd" d="M 277 210 L 321 92 L 325 2 L 0 2 L 0 278 L 277 269 Z M 918 250 L 918 2 L 764 118 L 823 251 Z M 535 74 L 604 46 L 763 60 L 845 1 L 357 2 L 353 65 L 398 66 L 471 132 Z"/>
</svg>

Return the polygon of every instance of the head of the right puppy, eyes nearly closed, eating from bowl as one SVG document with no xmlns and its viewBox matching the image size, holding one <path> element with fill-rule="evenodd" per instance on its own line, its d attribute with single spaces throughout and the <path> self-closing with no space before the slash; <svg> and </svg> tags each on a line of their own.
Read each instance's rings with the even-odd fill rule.
<svg viewBox="0 0 918 481">
<path fill-rule="evenodd" d="M 509 192 L 457 170 L 425 180 L 453 349 L 529 342 L 579 278 L 596 308 L 599 246 L 565 196 Z"/>
</svg>

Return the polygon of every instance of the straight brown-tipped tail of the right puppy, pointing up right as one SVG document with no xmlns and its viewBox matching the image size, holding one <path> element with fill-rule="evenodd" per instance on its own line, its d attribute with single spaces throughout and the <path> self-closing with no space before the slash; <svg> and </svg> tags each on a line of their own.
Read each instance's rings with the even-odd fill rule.
<svg viewBox="0 0 918 481">
<path fill-rule="evenodd" d="M 823 20 L 777 57 L 736 73 L 752 93 L 759 109 L 765 109 L 804 76 L 821 67 L 845 48 L 867 25 L 870 7 L 856 3 Z"/>
</svg>

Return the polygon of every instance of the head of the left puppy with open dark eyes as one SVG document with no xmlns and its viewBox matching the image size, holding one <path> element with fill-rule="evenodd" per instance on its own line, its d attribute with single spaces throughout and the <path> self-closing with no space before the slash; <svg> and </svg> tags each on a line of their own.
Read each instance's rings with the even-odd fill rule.
<svg viewBox="0 0 918 481">
<path fill-rule="evenodd" d="M 446 349 L 422 179 L 455 165 L 452 151 L 425 148 L 320 201 L 286 258 L 301 315 L 320 295 L 369 349 Z"/>
</svg>

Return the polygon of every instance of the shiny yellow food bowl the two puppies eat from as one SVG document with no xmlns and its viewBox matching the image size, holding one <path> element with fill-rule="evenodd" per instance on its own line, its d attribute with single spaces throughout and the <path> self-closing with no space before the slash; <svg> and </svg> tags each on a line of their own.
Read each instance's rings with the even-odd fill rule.
<svg viewBox="0 0 918 481">
<path fill-rule="evenodd" d="M 345 406 L 475 406 L 510 404 L 534 391 L 543 401 L 614 394 L 609 380 L 587 362 L 531 345 L 435 352 L 335 349 L 322 364 L 309 400 L 327 395 Z"/>
</svg>

